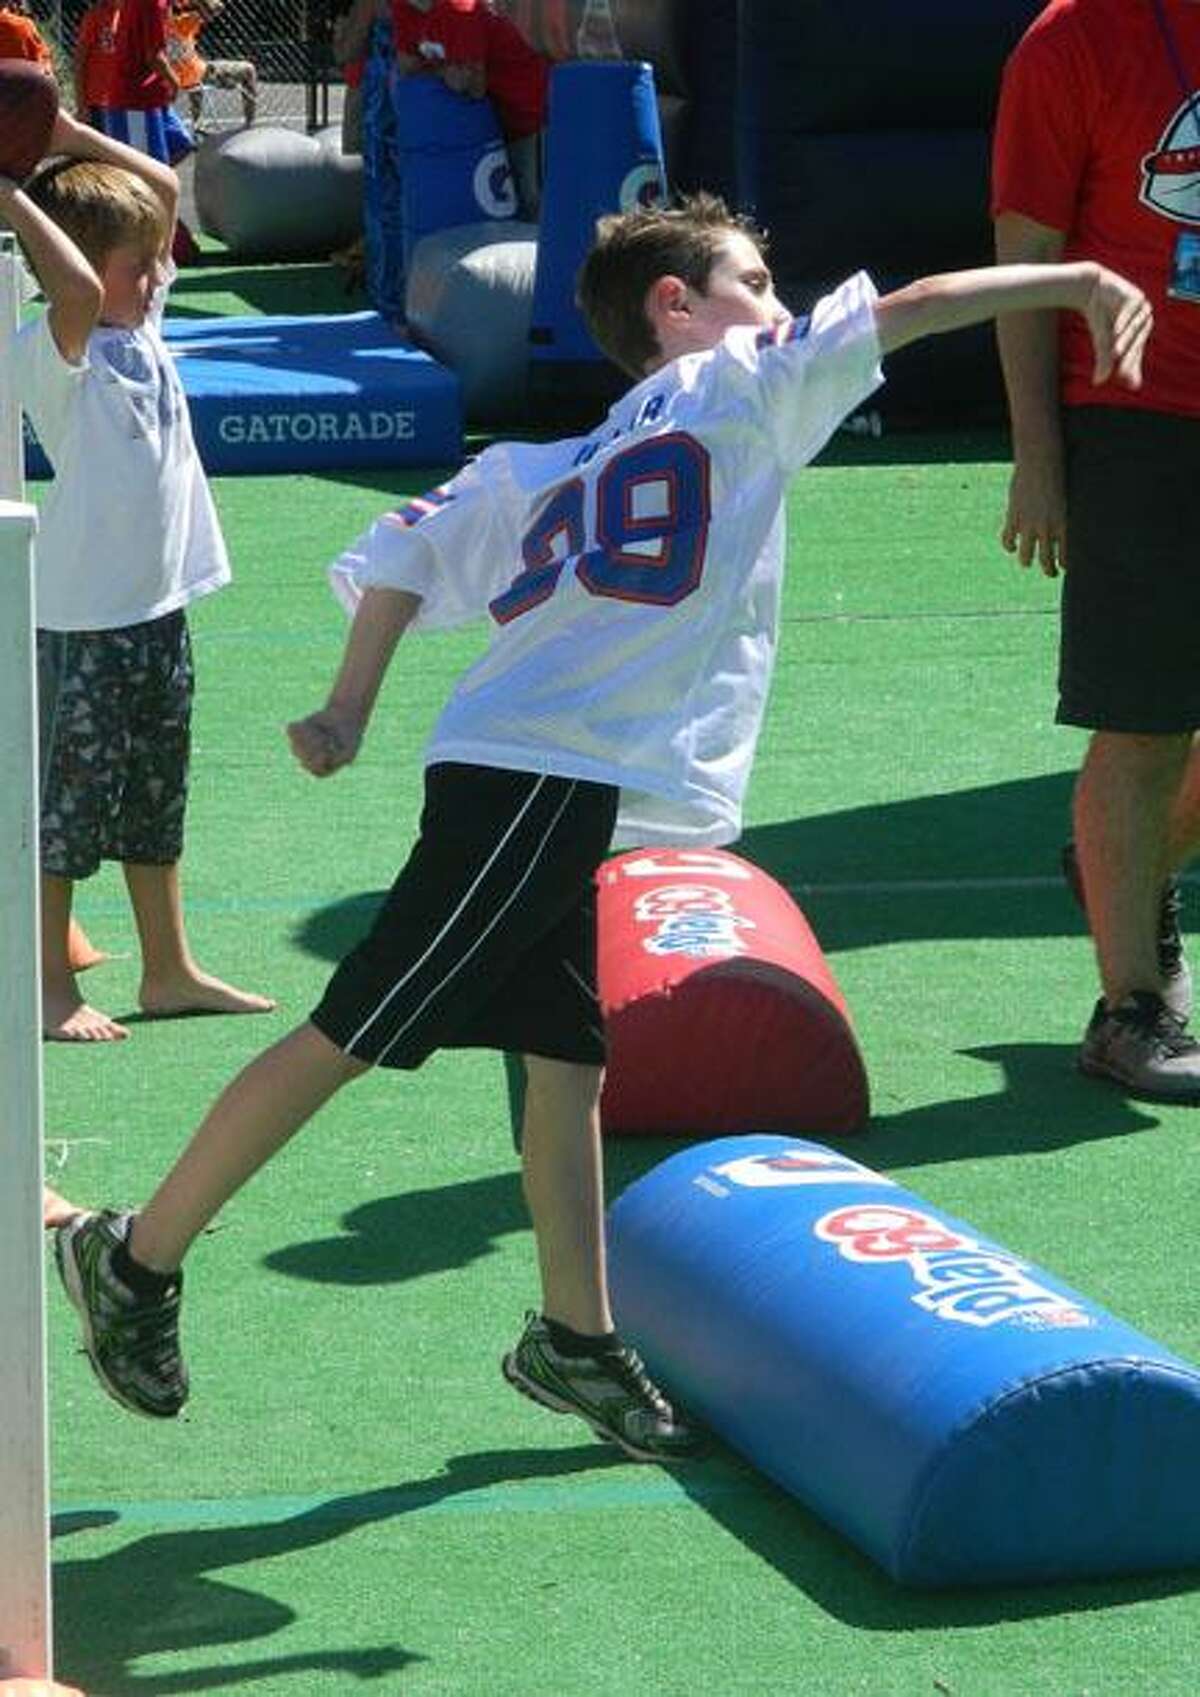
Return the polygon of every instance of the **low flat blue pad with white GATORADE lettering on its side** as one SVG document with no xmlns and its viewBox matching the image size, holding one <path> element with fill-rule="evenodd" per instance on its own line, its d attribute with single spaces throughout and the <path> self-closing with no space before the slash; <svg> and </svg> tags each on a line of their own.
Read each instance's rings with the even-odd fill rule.
<svg viewBox="0 0 1200 1697">
<path fill-rule="evenodd" d="M 462 458 L 453 372 L 377 312 L 166 319 L 207 472 L 319 472 Z M 27 472 L 46 456 L 27 445 Z"/>
</svg>

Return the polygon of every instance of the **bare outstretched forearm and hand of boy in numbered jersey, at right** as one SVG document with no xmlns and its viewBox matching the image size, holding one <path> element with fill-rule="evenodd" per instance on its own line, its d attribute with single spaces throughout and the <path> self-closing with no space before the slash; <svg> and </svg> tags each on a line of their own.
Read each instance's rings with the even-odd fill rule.
<svg viewBox="0 0 1200 1697">
<path fill-rule="evenodd" d="M 876 302 L 884 353 L 922 336 L 939 336 L 1000 317 L 1047 309 L 1081 312 L 1091 331 L 1091 380 L 1110 377 L 1141 387 L 1142 351 L 1154 322 L 1151 304 L 1134 283 L 1091 260 L 1071 265 L 993 265 L 978 272 L 922 277 Z"/>
</svg>

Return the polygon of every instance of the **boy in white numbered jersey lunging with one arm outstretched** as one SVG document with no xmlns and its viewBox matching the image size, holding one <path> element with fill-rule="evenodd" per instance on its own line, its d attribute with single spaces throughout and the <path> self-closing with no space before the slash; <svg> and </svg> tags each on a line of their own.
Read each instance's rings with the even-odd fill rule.
<svg viewBox="0 0 1200 1697">
<path fill-rule="evenodd" d="M 601 222 L 580 302 L 635 387 L 586 438 L 489 448 L 338 563 L 356 599 L 326 706 L 290 726 L 316 776 L 353 760 L 406 628 L 489 613 L 489 652 L 433 733 L 421 835 L 312 1018 L 224 1091 L 149 1205 L 58 1235 L 105 1388 L 178 1412 L 178 1268 L 217 1208 L 338 1088 L 433 1047 L 519 1049 L 541 1313 L 502 1371 L 645 1459 L 696 1439 L 608 1305 L 592 886 L 621 842 L 740 828 L 776 647 L 788 475 L 879 382 L 879 356 L 1015 307 L 1074 307 L 1136 384 L 1139 290 L 1095 265 L 990 268 L 884 299 L 850 278 L 811 319 L 776 299 L 721 202 Z"/>
</svg>

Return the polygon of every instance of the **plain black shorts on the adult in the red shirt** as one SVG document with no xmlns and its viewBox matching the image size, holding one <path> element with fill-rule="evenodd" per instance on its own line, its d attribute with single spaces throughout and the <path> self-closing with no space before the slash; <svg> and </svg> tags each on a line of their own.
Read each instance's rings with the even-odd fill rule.
<svg viewBox="0 0 1200 1697">
<path fill-rule="evenodd" d="M 1068 407 L 1061 725 L 1200 726 L 1200 419 Z"/>
</svg>

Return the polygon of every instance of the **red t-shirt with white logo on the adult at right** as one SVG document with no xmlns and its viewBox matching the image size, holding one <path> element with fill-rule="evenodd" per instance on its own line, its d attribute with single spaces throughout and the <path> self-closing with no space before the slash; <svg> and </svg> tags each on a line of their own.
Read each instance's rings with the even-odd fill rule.
<svg viewBox="0 0 1200 1697">
<path fill-rule="evenodd" d="M 993 217 L 1066 234 L 1154 305 L 1142 387 L 1091 384 L 1091 341 L 1061 316 L 1063 399 L 1200 416 L 1200 302 L 1168 283 L 1183 231 L 1200 232 L 1200 5 L 1163 0 L 1180 81 L 1151 0 L 1051 0 L 1005 68 L 993 139 Z"/>
</svg>

